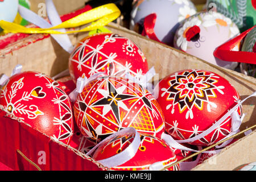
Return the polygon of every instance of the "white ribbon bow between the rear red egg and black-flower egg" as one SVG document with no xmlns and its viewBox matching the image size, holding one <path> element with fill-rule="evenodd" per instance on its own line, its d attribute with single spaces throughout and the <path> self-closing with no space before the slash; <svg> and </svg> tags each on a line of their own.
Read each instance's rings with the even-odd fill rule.
<svg viewBox="0 0 256 182">
<path fill-rule="evenodd" d="M 125 77 L 133 82 L 136 82 L 137 84 L 143 86 L 143 88 L 146 88 L 149 92 L 153 93 L 154 86 L 148 82 L 152 79 L 152 77 L 155 76 L 155 68 L 152 67 L 148 72 L 143 75 L 139 80 L 133 76 L 131 76 L 129 73 L 126 73 Z"/>
</svg>

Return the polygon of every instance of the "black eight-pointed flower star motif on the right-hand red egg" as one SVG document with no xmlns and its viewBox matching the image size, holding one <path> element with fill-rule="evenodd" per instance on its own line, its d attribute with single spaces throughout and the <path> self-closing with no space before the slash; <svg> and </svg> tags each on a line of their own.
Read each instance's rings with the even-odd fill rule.
<svg viewBox="0 0 256 182">
<path fill-rule="evenodd" d="M 209 101 L 209 97 L 216 97 L 214 90 L 223 94 L 221 89 L 224 89 L 223 86 L 215 85 L 218 82 L 216 78 L 217 76 L 213 74 L 207 75 L 204 71 L 199 70 L 185 71 L 180 75 L 174 75 L 169 81 L 170 87 L 166 90 L 168 93 L 167 100 L 173 100 L 172 106 L 177 104 L 180 112 L 188 109 L 191 118 L 193 118 L 193 106 L 201 110 L 203 109 L 203 102 L 207 102 L 207 109 L 210 111 L 209 105 L 213 107 L 216 105 Z M 174 107 L 172 108 L 172 113 L 174 113 Z"/>
</svg>

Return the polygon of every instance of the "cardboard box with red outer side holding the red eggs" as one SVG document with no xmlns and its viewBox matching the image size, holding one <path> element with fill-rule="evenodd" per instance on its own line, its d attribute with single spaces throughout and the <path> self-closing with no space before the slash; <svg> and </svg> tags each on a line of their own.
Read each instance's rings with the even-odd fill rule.
<svg viewBox="0 0 256 182">
<path fill-rule="evenodd" d="M 80 27 L 82 28 L 82 27 Z M 245 98 L 256 90 L 256 79 L 235 71 L 209 64 L 197 57 L 175 48 L 149 40 L 114 23 L 106 26 L 110 31 L 126 36 L 136 43 L 147 57 L 149 68 L 155 67 L 159 79 L 186 68 L 205 69 L 217 73 L 231 82 Z M 71 34 L 75 45 L 88 33 Z M 49 35 L 28 35 L 26 38 L 0 50 L 0 73 L 10 75 L 16 64 L 22 64 L 22 71 L 39 71 L 55 76 L 68 68 L 69 54 Z M 240 127 L 244 130 L 255 125 L 255 98 L 243 104 L 245 118 Z M 15 117 L 0 112 L 0 162 L 14 170 L 106 170 L 97 161 L 82 152 L 53 141 L 46 135 L 32 129 Z M 14 137 L 15 135 L 15 137 Z M 205 160 L 192 170 L 233 170 L 241 164 L 256 161 L 256 132 L 240 135 L 238 141 L 226 147 L 220 154 Z M 46 162 L 40 157 L 46 156 Z"/>
</svg>

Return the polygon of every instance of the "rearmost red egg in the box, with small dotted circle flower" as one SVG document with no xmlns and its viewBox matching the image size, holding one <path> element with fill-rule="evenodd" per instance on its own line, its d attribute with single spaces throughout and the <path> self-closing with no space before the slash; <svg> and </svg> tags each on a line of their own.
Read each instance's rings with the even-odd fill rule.
<svg viewBox="0 0 256 182">
<path fill-rule="evenodd" d="M 104 72 L 111 76 L 141 78 L 148 71 L 147 60 L 131 40 L 117 34 L 94 34 L 80 40 L 69 57 L 69 72 L 76 82 Z"/>
</svg>

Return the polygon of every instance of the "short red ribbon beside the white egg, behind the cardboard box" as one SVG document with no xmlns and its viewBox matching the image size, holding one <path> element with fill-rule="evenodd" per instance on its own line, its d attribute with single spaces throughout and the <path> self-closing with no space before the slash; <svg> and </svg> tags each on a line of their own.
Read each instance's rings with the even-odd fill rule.
<svg viewBox="0 0 256 182">
<path fill-rule="evenodd" d="M 154 27 L 156 22 L 156 13 L 152 13 L 150 15 L 147 15 L 144 18 L 144 28 L 142 31 L 143 36 L 148 36 L 148 38 L 155 40 L 157 42 L 162 43 L 157 36 L 155 35 Z"/>
</svg>

